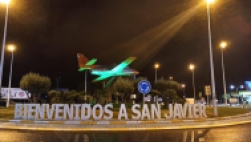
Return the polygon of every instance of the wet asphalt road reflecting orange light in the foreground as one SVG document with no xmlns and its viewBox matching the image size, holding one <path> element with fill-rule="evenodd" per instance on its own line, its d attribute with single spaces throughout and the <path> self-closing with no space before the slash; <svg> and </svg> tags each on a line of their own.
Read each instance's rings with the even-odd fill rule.
<svg viewBox="0 0 251 142">
<path fill-rule="evenodd" d="M 0 142 L 250 142 L 251 124 L 211 129 L 129 132 L 0 130 Z"/>
</svg>

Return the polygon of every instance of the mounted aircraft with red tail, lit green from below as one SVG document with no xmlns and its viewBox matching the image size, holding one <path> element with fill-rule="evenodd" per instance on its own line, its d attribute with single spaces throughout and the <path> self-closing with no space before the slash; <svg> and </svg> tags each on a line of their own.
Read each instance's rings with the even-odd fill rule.
<svg viewBox="0 0 251 142">
<path fill-rule="evenodd" d="M 94 81 L 100 81 L 116 76 L 135 75 L 139 73 L 138 71 L 128 67 L 128 65 L 131 64 L 136 59 L 136 57 L 129 57 L 112 69 L 108 69 L 100 65 L 95 65 L 97 59 L 88 60 L 81 53 L 77 53 L 77 58 L 79 65 L 78 71 L 84 71 L 86 69 L 89 69 L 91 71 L 91 74 L 99 76 L 98 78 L 94 79 Z"/>
</svg>

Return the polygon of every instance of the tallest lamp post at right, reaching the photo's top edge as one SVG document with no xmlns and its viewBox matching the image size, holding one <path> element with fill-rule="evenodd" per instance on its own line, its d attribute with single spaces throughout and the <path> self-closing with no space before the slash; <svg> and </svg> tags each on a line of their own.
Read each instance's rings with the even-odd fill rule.
<svg viewBox="0 0 251 142">
<path fill-rule="evenodd" d="M 214 116 L 218 116 L 218 110 L 216 104 L 215 80 L 214 80 L 213 49 L 211 41 L 211 27 L 210 27 L 210 4 L 214 2 L 214 0 L 206 0 L 206 1 L 207 1 L 208 41 L 209 41 L 209 54 L 210 54 L 212 97 L 214 104 Z"/>
</svg>

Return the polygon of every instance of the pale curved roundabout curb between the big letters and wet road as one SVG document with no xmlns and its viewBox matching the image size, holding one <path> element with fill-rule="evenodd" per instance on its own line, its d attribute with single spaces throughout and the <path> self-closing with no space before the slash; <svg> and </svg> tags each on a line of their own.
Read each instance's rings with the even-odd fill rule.
<svg viewBox="0 0 251 142">
<path fill-rule="evenodd" d="M 0 129 L 31 131 L 130 131 L 195 129 L 232 126 L 251 123 L 251 112 L 218 118 L 193 120 L 146 120 L 146 121 L 43 121 L 0 120 Z"/>
</svg>

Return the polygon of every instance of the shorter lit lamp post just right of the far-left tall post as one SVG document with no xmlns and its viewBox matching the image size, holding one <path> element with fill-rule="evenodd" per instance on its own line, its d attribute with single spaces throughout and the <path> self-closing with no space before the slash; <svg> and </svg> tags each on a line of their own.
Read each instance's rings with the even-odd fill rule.
<svg viewBox="0 0 251 142">
<path fill-rule="evenodd" d="M 9 104 L 10 104 L 10 88 L 11 88 L 11 78 L 12 78 L 12 65 L 13 65 L 13 61 L 14 61 L 13 52 L 15 50 L 15 46 L 14 45 L 9 45 L 8 50 L 11 52 L 11 61 L 10 61 L 10 74 L 9 74 L 9 85 L 8 85 L 8 99 L 7 99 L 6 107 L 9 107 Z"/>
</svg>

